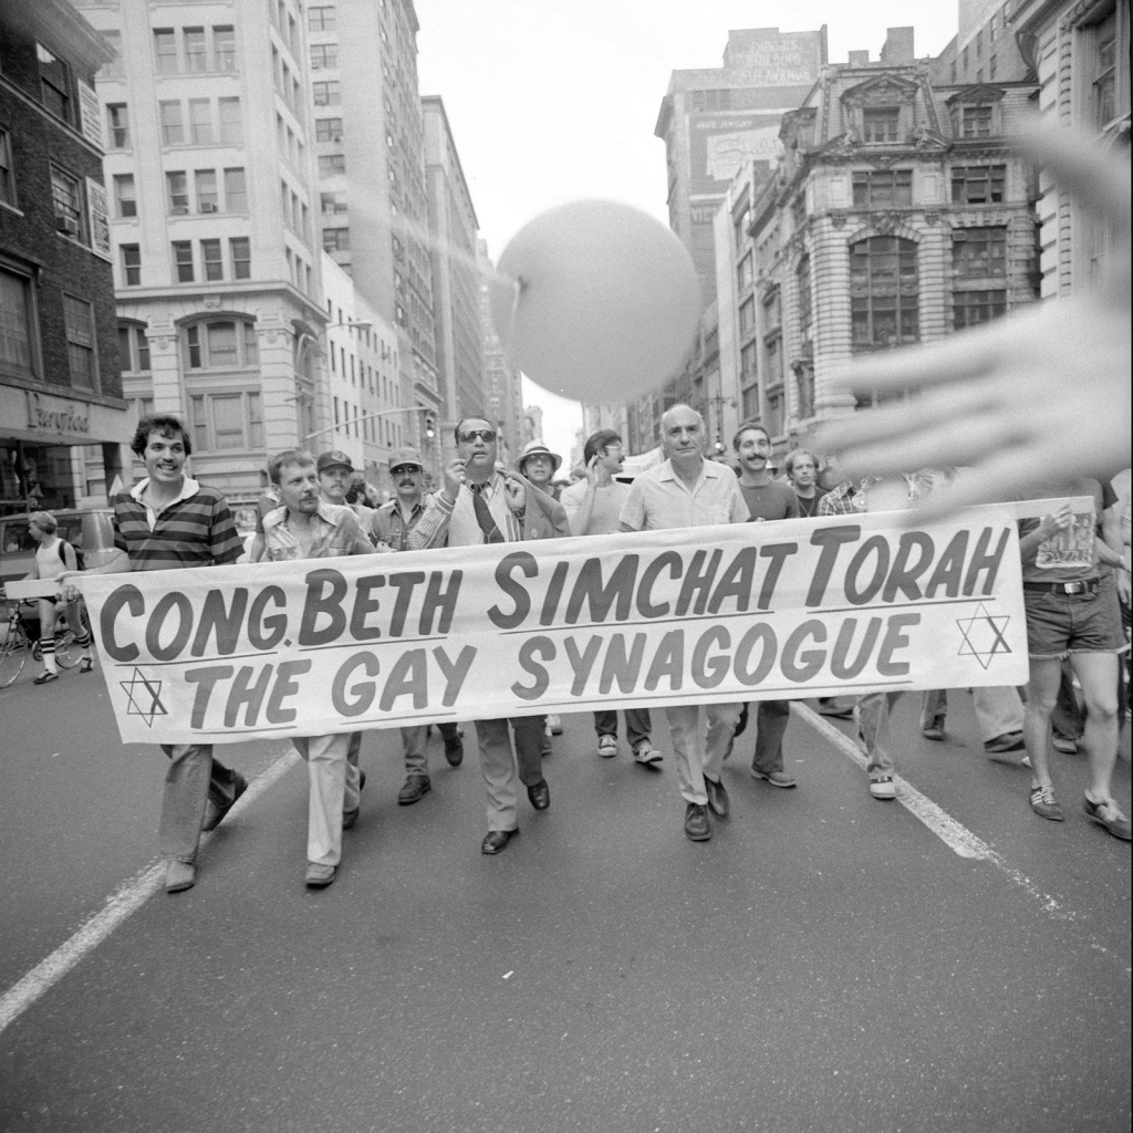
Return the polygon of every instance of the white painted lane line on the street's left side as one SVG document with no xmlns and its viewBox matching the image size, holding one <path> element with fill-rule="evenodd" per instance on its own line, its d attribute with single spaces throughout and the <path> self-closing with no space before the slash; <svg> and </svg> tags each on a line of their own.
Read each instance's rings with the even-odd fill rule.
<svg viewBox="0 0 1133 1133">
<path fill-rule="evenodd" d="M 250 807 L 265 791 L 274 786 L 299 763 L 299 753 L 289 749 L 275 759 L 269 768 L 257 775 L 240 801 L 230 811 L 238 815 Z M 201 844 L 207 845 L 212 834 L 204 834 Z M 10 1026 L 42 995 L 54 987 L 87 953 L 93 952 L 111 932 L 136 913 L 159 889 L 165 879 L 165 862 L 147 866 L 117 893 L 107 898 L 105 904 L 77 932 L 61 944 L 50 956 L 40 961 L 22 979 L 17 980 L 0 996 L 0 1032 Z"/>
</svg>

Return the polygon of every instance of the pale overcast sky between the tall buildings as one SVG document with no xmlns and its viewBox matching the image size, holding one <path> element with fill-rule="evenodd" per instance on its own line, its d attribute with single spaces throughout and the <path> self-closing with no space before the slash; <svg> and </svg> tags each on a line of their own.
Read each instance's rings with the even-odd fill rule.
<svg viewBox="0 0 1133 1133">
<path fill-rule="evenodd" d="M 624 201 L 667 224 L 665 147 L 654 137 L 674 70 L 719 67 L 730 29 L 828 26 L 830 62 L 877 59 L 887 27 L 912 25 L 917 56 L 955 35 L 955 0 L 790 5 L 740 0 L 416 0 L 421 94 L 444 100 L 479 220 L 499 261 L 531 218 L 583 197 Z M 570 453 L 581 414 L 525 381 L 552 449 Z"/>
</svg>

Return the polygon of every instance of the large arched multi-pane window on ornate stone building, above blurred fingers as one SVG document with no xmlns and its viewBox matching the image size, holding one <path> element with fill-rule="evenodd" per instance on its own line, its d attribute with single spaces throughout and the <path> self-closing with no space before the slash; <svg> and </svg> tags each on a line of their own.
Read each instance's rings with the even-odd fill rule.
<svg viewBox="0 0 1133 1133">
<path fill-rule="evenodd" d="M 850 317 L 853 349 L 920 339 L 917 245 L 898 236 L 871 236 L 850 245 Z"/>
</svg>

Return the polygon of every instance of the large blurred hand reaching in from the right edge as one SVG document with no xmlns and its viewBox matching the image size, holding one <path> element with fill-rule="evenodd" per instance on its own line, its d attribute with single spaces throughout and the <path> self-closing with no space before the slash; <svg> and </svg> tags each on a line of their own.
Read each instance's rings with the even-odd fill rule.
<svg viewBox="0 0 1133 1133">
<path fill-rule="evenodd" d="M 1051 478 L 1109 479 L 1130 463 L 1128 151 L 1050 129 L 1029 135 L 1022 150 L 1109 227 L 1105 273 L 1071 299 L 1036 303 L 940 343 L 855 363 L 837 385 L 911 397 L 819 433 L 851 477 L 926 465 L 974 471 L 926 501 L 919 520 L 1024 499 Z"/>
</svg>

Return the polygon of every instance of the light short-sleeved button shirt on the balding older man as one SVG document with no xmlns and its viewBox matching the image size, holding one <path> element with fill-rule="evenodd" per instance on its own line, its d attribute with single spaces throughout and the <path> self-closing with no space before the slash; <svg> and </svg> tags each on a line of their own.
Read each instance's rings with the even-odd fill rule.
<svg viewBox="0 0 1133 1133">
<path fill-rule="evenodd" d="M 748 519 L 735 472 L 715 460 L 704 462 L 692 487 L 676 475 L 671 460 L 647 469 L 630 485 L 621 516 L 622 523 L 634 531 L 746 523 Z"/>
</svg>

